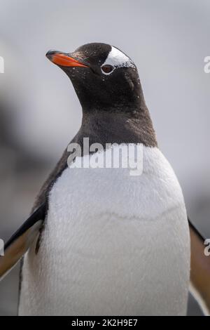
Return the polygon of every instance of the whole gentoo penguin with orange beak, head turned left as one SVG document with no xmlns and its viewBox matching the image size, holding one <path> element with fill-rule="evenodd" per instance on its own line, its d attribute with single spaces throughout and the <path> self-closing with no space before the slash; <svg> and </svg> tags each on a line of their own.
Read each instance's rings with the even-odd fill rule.
<svg viewBox="0 0 210 330">
<path fill-rule="evenodd" d="M 25 254 L 19 315 L 186 315 L 190 231 L 193 284 L 209 308 L 199 275 L 209 287 L 202 237 L 193 225 L 189 231 L 134 62 L 99 43 L 46 55 L 71 79 L 83 120 L 0 258 L 3 277 Z M 113 166 L 113 154 L 135 164 L 139 150 L 138 173 Z M 96 159 L 111 159 L 111 166 L 91 166 Z"/>
</svg>

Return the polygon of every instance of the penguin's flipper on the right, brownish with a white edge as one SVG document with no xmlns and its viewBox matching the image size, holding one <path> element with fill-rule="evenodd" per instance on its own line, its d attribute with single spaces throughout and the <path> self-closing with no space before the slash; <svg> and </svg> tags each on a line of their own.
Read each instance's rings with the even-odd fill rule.
<svg viewBox="0 0 210 330">
<path fill-rule="evenodd" d="M 189 219 L 188 219 L 189 220 Z M 191 239 L 191 292 L 206 315 L 210 315 L 210 256 L 205 256 L 207 247 L 204 237 L 190 222 Z"/>
</svg>

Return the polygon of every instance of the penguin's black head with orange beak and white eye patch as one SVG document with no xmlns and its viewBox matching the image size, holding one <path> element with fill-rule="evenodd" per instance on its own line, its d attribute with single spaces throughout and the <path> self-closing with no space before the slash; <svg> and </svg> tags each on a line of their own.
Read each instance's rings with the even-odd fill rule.
<svg viewBox="0 0 210 330">
<path fill-rule="evenodd" d="M 109 44 L 85 44 L 73 53 L 48 51 L 47 58 L 71 79 L 83 110 L 109 112 L 139 108 L 143 99 L 137 67 Z"/>
</svg>

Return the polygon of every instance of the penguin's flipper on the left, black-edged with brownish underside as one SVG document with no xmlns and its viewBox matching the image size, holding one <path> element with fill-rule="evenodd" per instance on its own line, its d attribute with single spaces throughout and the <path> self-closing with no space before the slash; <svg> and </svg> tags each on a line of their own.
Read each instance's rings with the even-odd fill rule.
<svg viewBox="0 0 210 330">
<path fill-rule="evenodd" d="M 38 239 L 45 213 L 46 204 L 42 204 L 5 244 L 4 256 L 0 257 L 0 281 L 24 256 L 35 239 Z"/>
</svg>

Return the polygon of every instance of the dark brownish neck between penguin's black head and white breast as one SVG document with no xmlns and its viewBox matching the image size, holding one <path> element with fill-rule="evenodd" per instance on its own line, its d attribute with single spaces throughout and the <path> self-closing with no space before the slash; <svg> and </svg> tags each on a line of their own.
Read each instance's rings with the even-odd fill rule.
<svg viewBox="0 0 210 330">
<path fill-rule="evenodd" d="M 157 147 L 158 143 L 151 116 L 145 103 L 143 106 L 122 111 L 83 110 L 82 125 L 76 140 L 83 143 L 83 138 L 89 138 L 90 144 L 100 143 L 142 143 L 146 147 Z"/>
</svg>

